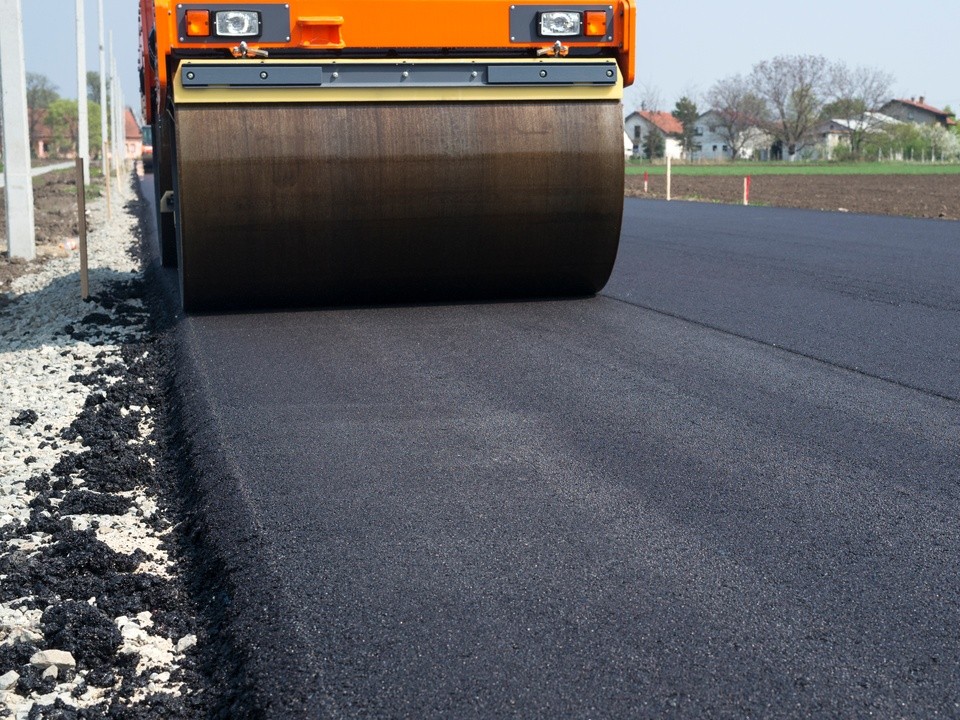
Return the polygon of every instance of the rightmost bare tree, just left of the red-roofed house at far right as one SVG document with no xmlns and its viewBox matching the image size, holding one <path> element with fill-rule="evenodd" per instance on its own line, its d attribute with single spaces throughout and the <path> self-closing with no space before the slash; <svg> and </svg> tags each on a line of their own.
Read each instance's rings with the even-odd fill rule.
<svg viewBox="0 0 960 720">
<path fill-rule="evenodd" d="M 893 76 L 876 68 L 848 68 L 842 62 L 831 72 L 834 100 L 824 108 L 824 119 L 842 119 L 849 129 L 850 150 L 860 157 L 864 141 L 886 126 L 877 110 L 890 99 Z"/>
</svg>

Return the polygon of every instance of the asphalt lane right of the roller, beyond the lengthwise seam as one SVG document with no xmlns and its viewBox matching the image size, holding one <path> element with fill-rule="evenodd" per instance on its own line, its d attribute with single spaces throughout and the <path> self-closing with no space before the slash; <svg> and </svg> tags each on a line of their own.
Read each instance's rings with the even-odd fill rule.
<svg viewBox="0 0 960 720">
<path fill-rule="evenodd" d="M 960 225 L 628 202 L 605 294 L 960 400 Z"/>
</svg>

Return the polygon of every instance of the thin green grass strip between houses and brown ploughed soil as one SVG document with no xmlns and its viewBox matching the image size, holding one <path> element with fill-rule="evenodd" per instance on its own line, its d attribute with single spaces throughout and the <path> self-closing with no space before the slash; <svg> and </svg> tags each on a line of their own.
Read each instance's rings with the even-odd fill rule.
<svg viewBox="0 0 960 720">
<path fill-rule="evenodd" d="M 664 163 L 628 162 L 627 175 L 665 175 Z M 960 175 L 960 163 L 808 163 L 808 162 L 730 162 L 715 164 L 674 163 L 674 175 Z"/>
</svg>

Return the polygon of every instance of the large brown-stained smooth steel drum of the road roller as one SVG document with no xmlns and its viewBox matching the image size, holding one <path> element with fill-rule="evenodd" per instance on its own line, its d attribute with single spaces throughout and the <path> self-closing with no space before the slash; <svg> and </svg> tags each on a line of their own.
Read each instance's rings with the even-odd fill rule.
<svg viewBox="0 0 960 720">
<path fill-rule="evenodd" d="M 181 105 L 186 310 L 591 294 L 619 102 Z"/>
</svg>

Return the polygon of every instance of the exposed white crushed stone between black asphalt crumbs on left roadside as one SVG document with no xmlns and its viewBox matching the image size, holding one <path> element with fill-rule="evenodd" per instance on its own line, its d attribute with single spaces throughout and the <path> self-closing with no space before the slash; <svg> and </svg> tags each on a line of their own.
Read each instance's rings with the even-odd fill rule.
<svg viewBox="0 0 960 720">
<path fill-rule="evenodd" d="M 125 194 L 119 199 L 114 196 L 113 217 L 109 220 L 102 198 L 88 205 L 91 294 L 97 293 L 102 282 L 132 279 L 140 273 L 129 252 L 135 242 L 137 219 L 131 212 L 117 209 L 130 199 L 129 189 Z M 81 439 L 67 442 L 60 437 L 60 432 L 80 414 L 88 394 L 82 384 L 71 382 L 70 376 L 89 371 L 95 357 L 102 353 L 110 360 L 122 362 L 117 345 L 94 345 L 62 334 L 66 325 L 77 324 L 91 312 L 91 307 L 80 299 L 78 269 L 79 254 L 70 252 L 67 257 L 51 259 L 17 278 L 8 293 L 16 304 L 0 322 L 0 527 L 29 520 L 33 494 L 25 488 L 28 478 L 49 472 L 66 452 L 83 449 Z M 125 327 L 122 332 L 127 342 L 133 342 L 142 338 L 146 329 Z M 37 421 L 29 427 L 10 425 L 10 419 L 23 409 L 35 411 Z M 141 430 L 147 437 L 152 415 L 147 412 L 144 417 Z M 28 458 L 32 458 L 29 464 Z M 142 491 L 131 496 L 133 506 L 124 515 L 75 515 L 71 522 L 75 529 L 97 527 L 97 537 L 118 552 L 145 552 L 150 559 L 141 564 L 139 571 L 169 576 L 171 560 L 161 548 L 163 536 L 145 522 L 157 512 L 156 504 Z M 10 545 L 23 552 L 34 552 L 48 542 L 43 533 L 34 533 Z M 24 604 L 29 599 L 0 604 L 0 645 L 42 639 L 42 612 L 26 609 Z M 138 691 L 138 697 L 145 697 L 148 692 L 179 695 L 181 684 L 171 681 L 171 677 L 176 676 L 178 661 L 196 644 L 196 638 L 187 636 L 174 645 L 171 640 L 150 633 L 149 613 L 115 621 L 123 633 L 120 651 L 136 654 L 137 672 L 146 674 L 149 680 L 143 692 Z M 15 671 L 7 672 L 0 676 L 0 716 L 6 709 L 9 717 L 27 718 L 35 706 L 50 705 L 58 699 L 71 707 L 90 707 L 109 693 L 109 689 L 90 686 L 79 692 L 84 671 L 64 673 L 75 668 L 76 663 L 63 650 L 37 652 L 31 663 L 47 668 L 50 677 L 56 674 L 64 681 L 53 692 L 23 696 L 16 692 L 20 676 Z"/>
</svg>

